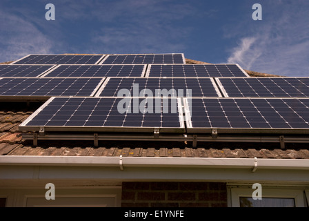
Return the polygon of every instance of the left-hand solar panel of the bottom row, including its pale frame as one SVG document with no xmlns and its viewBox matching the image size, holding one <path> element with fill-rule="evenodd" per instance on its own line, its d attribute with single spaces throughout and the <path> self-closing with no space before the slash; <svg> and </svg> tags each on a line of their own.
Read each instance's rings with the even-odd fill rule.
<svg viewBox="0 0 309 221">
<path fill-rule="evenodd" d="M 176 98 L 123 100 L 106 97 L 52 97 L 19 128 L 111 132 L 153 132 L 154 128 L 160 128 L 160 132 L 183 132 L 178 102 Z"/>
</svg>

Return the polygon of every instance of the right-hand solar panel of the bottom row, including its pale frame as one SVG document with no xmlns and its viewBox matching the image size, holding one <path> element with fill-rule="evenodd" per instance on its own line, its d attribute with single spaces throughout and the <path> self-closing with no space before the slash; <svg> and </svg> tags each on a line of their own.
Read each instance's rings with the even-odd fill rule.
<svg viewBox="0 0 309 221">
<path fill-rule="evenodd" d="M 219 100 L 220 106 L 217 105 L 215 100 Z M 243 134 L 309 134 L 309 98 L 192 98 L 191 103 L 188 99 L 184 100 L 184 113 L 186 121 L 186 132 L 187 133 L 212 133 L 214 130 L 216 133 L 243 133 Z M 206 100 L 209 103 L 205 106 Z M 237 100 L 239 103 L 235 102 Z M 197 104 L 192 104 L 192 103 Z M 203 103 L 203 106 L 199 105 Z M 239 106 L 243 103 L 244 106 Z M 252 105 L 246 106 L 247 104 L 261 104 L 261 106 Z M 270 102 L 275 105 L 270 105 Z M 298 102 L 298 104 L 303 104 L 306 108 L 301 106 L 288 106 L 290 109 L 286 108 L 283 104 L 288 102 Z M 221 104 L 225 103 L 225 106 Z M 268 103 L 266 106 L 264 104 Z M 281 103 L 281 104 L 280 104 Z M 190 105 L 191 104 L 191 105 Z M 206 108 L 209 108 L 208 109 Z M 292 107 L 292 108 L 291 108 Z M 192 113 L 191 108 L 195 111 L 199 111 L 200 114 L 195 115 L 195 125 L 206 125 L 206 126 L 193 126 L 192 125 Z M 255 111 L 254 108 L 256 108 Z M 292 113 L 293 108 L 298 109 Z M 207 110 L 207 111 L 206 111 Z M 292 111 L 291 111 L 292 110 Z M 228 112 L 228 114 L 226 114 Z M 210 115 L 211 113 L 211 115 Z M 232 114 L 233 113 L 233 114 Z M 243 114 L 244 113 L 244 114 Z M 299 115 L 301 114 L 301 115 Z M 201 115 L 201 116 L 199 116 Z M 298 115 L 298 116 L 297 116 Z M 208 121 L 205 121 L 206 117 Z M 263 118 L 263 121 L 261 119 Z M 215 119 L 214 124 L 212 120 Z M 217 121 L 217 122 L 216 122 Z M 231 123 L 236 126 L 231 126 Z M 268 128 L 266 128 L 266 124 Z M 216 126 L 215 124 L 221 124 L 225 126 Z M 251 126 L 250 124 L 263 125 L 263 126 Z M 302 125 L 306 127 L 297 127 L 291 125 Z M 229 126 L 228 126 L 229 125 Z M 249 125 L 249 126 L 241 126 Z M 283 127 L 289 125 L 289 127 Z M 275 127 L 274 127 L 275 126 Z"/>
</svg>

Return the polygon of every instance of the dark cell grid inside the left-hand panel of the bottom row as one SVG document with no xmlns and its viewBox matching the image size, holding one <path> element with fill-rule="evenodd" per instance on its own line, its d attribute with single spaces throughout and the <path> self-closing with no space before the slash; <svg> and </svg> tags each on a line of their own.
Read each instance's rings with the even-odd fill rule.
<svg viewBox="0 0 309 221">
<path fill-rule="evenodd" d="M 30 121 L 23 126 L 78 126 L 110 128 L 180 128 L 177 99 L 167 99 L 168 109 L 163 109 L 163 99 L 159 99 L 159 111 L 150 108 L 150 102 L 138 99 L 137 111 L 134 111 L 133 99 L 126 100 L 128 106 L 121 106 L 120 98 L 94 97 L 53 97 L 39 113 L 34 113 Z M 155 106 L 155 101 L 152 101 Z M 148 111 L 149 110 L 152 111 Z M 130 113 L 129 113 L 130 110 Z M 136 112 L 136 113 L 135 113 Z M 153 112 L 153 113 L 151 113 Z M 166 112 L 166 113 L 165 113 Z"/>
</svg>

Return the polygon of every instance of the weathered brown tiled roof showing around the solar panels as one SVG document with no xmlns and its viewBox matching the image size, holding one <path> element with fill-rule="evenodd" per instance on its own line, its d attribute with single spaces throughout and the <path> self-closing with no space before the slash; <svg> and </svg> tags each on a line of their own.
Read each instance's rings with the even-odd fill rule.
<svg viewBox="0 0 309 221">
<path fill-rule="evenodd" d="M 207 64 L 186 59 L 187 64 Z M 246 72 L 252 77 L 280 77 Z M 22 140 L 19 124 L 41 106 L 32 103 L 1 103 L 0 155 L 50 155 L 50 156 L 105 156 L 105 157 L 222 157 L 264 159 L 309 159 L 308 144 L 286 144 L 283 150 L 278 143 L 253 142 L 200 142 L 196 148 L 184 142 L 93 142 L 39 141 L 33 146 Z"/>
</svg>

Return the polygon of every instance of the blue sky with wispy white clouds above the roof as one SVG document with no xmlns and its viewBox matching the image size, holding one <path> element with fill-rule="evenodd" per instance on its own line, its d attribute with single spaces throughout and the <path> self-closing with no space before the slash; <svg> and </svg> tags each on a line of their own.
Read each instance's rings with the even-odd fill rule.
<svg viewBox="0 0 309 221">
<path fill-rule="evenodd" d="M 55 20 L 47 21 L 47 3 Z M 262 6 L 262 21 L 252 5 Z M 309 77 L 308 0 L 0 2 L 0 62 L 28 54 L 172 53 Z"/>
</svg>

